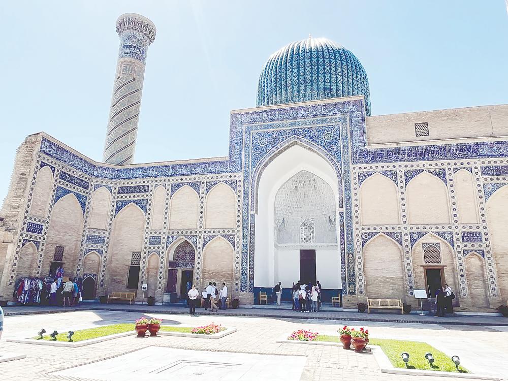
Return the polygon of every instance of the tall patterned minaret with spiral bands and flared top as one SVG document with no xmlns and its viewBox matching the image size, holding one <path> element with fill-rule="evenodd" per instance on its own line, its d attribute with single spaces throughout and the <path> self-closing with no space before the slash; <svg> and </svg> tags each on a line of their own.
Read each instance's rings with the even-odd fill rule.
<svg viewBox="0 0 508 381">
<path fill-rule="evenodd" d="M 136 13 L 116 21 L 120 50 L 109 111 L 104 163 L 133 164 L 141 92 L 148 45 L 155 40 L 155 25 Z"/>
</svg>

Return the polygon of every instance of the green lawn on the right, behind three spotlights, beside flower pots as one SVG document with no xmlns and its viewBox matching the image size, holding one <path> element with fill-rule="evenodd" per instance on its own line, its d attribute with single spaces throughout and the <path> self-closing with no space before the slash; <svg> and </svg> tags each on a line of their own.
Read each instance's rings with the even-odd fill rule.
<svg viewBox="0 0 508 381">
<path fill-rule="evenodd" d="M 317 335 L 316 341 L 340 342 L 340 337 Z M 436 350 L 432 345 L 425 342 L 370 338 L 369 345 L 379 345 L 385 355 L 390 359 L 392 365 L 396 368 L 406 368 L 400 355 L 403 352 L 407 352 L 409 354 L 408 369 L 457 372 L 457 368 L 449 356 Z M 425 358 L 425 354 L 429 352 L 435 360 L 432 366 Z M 459 372 L 468 373 L 467 369 L 460 365 Z"/>
</svg>

